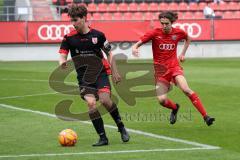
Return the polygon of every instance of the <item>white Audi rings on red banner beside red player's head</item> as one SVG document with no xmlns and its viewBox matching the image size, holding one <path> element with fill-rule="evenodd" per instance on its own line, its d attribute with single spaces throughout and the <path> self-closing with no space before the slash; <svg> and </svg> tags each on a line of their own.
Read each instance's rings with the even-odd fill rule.
<svg viewBox="0 0 240 160">
<path fill-rule="evenodd" d="M 197 38 L 202 33 L 202 28 L 197 23 L 175 23 L 173 27 L 180 28 L 188 33 L 189 37 Z"/>
</svg>

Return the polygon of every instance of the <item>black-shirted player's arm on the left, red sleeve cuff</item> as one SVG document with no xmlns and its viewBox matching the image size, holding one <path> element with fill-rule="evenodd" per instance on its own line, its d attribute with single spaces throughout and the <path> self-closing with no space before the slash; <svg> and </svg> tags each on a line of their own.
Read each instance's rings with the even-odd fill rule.
<svg viewBox="0 0 240 160">
<path fill-rule="evenodd" d="M 61 66 L 62 69 L 67 68 L 67 57 L 68 57 L 68 52 L 69 52 L 69 45 L 67 42 L 67 36 L 64 36 L 61 47 L 59 50 L 60 57 L 59 57 L 59 65 Z"/>
</svg>

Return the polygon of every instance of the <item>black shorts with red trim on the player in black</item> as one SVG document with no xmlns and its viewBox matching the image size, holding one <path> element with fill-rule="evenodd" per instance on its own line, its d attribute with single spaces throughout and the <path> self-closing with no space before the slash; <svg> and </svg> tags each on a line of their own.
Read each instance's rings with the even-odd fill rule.
<svg viewBox="0 0 240 160">
<path fill-rule="evenodd" d="M 98 94 L 101 92 L 111 93 L 111 85 L 107 73 L 101 73 L 95 83 L 86 83 L 82 78 L 78 78 L 80 95 L 84 99 L 86 94 L 93 94 L 96 100 L 99 99 Z"/>
</svg>

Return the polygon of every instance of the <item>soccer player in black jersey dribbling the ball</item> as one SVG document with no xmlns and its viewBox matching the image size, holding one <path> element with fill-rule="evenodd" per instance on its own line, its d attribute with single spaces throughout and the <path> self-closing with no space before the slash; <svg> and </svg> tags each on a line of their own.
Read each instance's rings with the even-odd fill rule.
<svg viewBox="0 0 240 160">
<path fill-rule="evenodd" d="M 81 97 L 87 102 L 89 117 L 100 139 L 93 146 L 108 145 L 108 138 L 104 130 L 103 120 L 96 109 L 96 101 L 110 112 L 123 142 L 129 141 L 129 134 L 118 112 L 117 105 L 111 100 L 111 86 L 108 79 L 108 70 L 103 64 L 103 52 L 106 54 L 110 64 L 112 80 L 118 83 L 121 77 L 118 73 L 115 60 L 112 57 L 111 45 L 108 43 L 104 33 L 92 29 L 86 23 L 87 8 L 83 5 L 73 4 L 68 9 L 68 15 L 75 30 L 64 36 L 59 50 L 59 64 L 62 68 L 67 67 L 68 52 L 71 52 L 77 79 L 80 87 Z M 80 63 L 80 67 L 79 64 Z"/>
</svg>

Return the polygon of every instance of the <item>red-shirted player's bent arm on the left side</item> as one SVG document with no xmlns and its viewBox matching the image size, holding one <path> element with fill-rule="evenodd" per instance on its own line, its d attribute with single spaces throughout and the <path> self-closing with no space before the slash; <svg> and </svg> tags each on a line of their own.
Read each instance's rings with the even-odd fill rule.
<svg viewBox="0 0 240 160">
<path fill-rule="evenodd" d="M 135 56 L 135 57 L 139 57 L 140 56 L 139 47 L 142 44 L 147 43 L 148 41 L 152 40 L 153 37 L 154 37 L 154 34 L 155 34 L 155 30 L 152 30 L 152 31 L 149 31 L 149 32 L 145 33 L 140 38 L 140 40 L 132 46 L 132 55 Z"/>
</svg>

